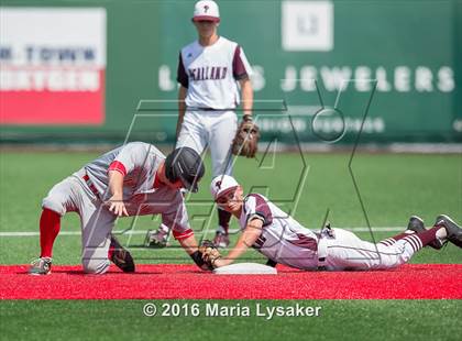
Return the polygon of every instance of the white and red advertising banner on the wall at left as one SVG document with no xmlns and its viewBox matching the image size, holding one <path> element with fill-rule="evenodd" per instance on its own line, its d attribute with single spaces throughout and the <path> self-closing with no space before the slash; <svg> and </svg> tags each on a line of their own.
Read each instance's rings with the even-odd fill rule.
<svg viewBox="0 0 462 341">
<path fill-rule="evenodd" d="M 0 8 L 0 123 L 105 122 L 106 9 Z"/>
</svg>

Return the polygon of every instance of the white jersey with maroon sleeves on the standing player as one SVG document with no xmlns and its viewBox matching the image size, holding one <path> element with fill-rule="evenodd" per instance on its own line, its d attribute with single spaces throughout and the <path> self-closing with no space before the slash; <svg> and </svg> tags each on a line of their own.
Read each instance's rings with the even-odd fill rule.
<svg viewBox="0 0 462 341">
<path fill-rule="evenodd" d="M 242 48 L 222 36 L 210 46 L 195 41 L 179 54 L 177 80 L 188 89 L 189 108 L 235 109 L 240 102 L 237 81 L 250 74 Z"/>
</svg>

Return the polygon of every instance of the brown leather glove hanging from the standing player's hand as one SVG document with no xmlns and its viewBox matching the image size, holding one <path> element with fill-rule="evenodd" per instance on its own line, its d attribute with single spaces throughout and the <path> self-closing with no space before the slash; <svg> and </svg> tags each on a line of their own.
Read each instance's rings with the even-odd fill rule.
<svg viewBox="0 0 462 341">
<path fill-rule="evenodd" d="M 246 157 L 254 157 L 258 147 L 260 128 L 252 121 L 250 114 L 244 114 L 244 119 L 238 128 L 238 132 L 232 142 L 232 153 Z"/>
</svg>

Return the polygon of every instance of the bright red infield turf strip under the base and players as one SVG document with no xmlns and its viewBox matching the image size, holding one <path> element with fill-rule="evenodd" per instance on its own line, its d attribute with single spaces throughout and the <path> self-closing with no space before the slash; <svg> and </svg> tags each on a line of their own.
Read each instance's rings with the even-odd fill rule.
<svg viewBox="0 0 462 341">
<path fill-rule="evenodd" d="M 0 266 L 1 299 L 461 299 L 462 264 L 404 265 L 381 272 L 302 272 L 213 275 L 195 265 L 139 265 L 102 276 L 80 266 L 54 266 L 48 276 L 26 265 Z"/>
</svg>

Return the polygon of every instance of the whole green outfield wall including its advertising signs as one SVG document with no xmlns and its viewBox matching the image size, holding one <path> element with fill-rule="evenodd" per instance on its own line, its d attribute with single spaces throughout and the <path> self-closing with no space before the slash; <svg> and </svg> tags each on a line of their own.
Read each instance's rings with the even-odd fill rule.
<svg viewBox="0 0 462 341">
<path fill-rule="evenodd" d="M 172 143 L 194 3 L 2 1 L 1 141 L 119 142 L 130 132 L 128 140 Z M 461 1 L 218 3 L 220 34 L 253 66 L 263 140 L 352 143 L 362 131 L 362 142 L 462 142 Z M 55 32 L 35 40 L 37 22 L 26 18 L 37 8 L 90 9 L 81 18 L 91 24 L 73 26 L 78 15 L 59 21 L 56 12 L 45 20 Z M 20 29 L 14 13 L 25 15 Z M 87 46 L 74 34 L 91 25 L 99 33 L 86 33 Z M 26 36 L 22 45 L 13 30 Z"/>
</svg>

